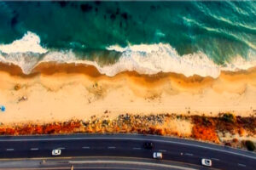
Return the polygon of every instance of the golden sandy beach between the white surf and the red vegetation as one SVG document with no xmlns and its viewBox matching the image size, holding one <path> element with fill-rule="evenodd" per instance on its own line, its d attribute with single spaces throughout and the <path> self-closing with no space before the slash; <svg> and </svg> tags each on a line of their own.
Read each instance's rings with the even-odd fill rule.
<svg viewBox="0 0 256 170">
<path fill-rule="evenodd" d="M 256 69 L 212 77 L 122 72 L 101 75 L 92 66 L 42 63 L 30 75 L 0 67 L 0 113 L 4 124 L 87 120 L 91 116 L 163 114 L 256 115 Z"/>
</svg>

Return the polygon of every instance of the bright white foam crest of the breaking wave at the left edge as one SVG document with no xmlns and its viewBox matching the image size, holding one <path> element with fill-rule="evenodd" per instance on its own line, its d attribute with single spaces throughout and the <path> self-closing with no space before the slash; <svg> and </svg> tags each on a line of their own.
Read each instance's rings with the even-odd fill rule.
<svg viewBox="0 0 256 170">
<path fill-rule="evenodd" d="M 44 54 L 47 52 L 47 49 L 41 47 L 40 37 L 38 37 L 38 35 L 32 33 L 31 31 L 27 31 L 20 40 L 15 40 L 10 44 L 1 44 L 0 51 L 5 54 L 27 52 Z"/>
</svg>

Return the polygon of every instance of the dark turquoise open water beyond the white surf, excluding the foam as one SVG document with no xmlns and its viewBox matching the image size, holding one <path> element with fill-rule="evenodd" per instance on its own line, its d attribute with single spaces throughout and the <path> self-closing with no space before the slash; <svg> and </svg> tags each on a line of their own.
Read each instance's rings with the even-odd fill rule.
<svg viewBox="0 0 256 170">
<path fill-rule="evenodd" d="M 113 45 L 169 44 L 180 57 L 201 52 L 217 65 L 256 50 L 253 1 L 0 2 L 0 23 L 1 44 L 31 31 L 43 48 L 103 63 L 122 55 Z"/>
</svg>

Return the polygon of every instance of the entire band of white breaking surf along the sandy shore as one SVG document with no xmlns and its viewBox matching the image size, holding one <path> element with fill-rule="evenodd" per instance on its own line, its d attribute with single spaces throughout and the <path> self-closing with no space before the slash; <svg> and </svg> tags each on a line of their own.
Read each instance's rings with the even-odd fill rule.
<svg viewBox="0 0 256 170">
<path fill-rule="evenodd" d="M 32 32 L 29 34 L 35 35 Z M 35 37 L 33 36 L 33 38 Z M 25 39 L 22 37 L 21 40 L 24 42 Z M 16 40 L 15 42 L 20 43 L 21 40 Z M 15 44 L 15 42 L 12 44 Z M 32 47 L 41 47 L 38 37 L 37 41 L 33 42 L 35 44 L 32 44 Z M 24 43 L 25 47 L 27 47 L 27 44 L 28 42 Z M 21 44 L 20 48 L 22 48 Z M 30 74 L 37 65 L 44 62 L 93 65 L 101 74 L 109 77 L 113 77 L 122 71 L 137 71 L 139 74 L 148 75 L 159 72 L 175 72 L 186 77 L 199 75 L 201 77 L 216 78 L 219 76 L 220 71 L 247 70 L 256 65 L 256 54 L 254 51 L 250 51 L 248 59 L 237 56 L 231 62 L 226 63 L 226 65 L 217 65 L 207 54 L 197 52 L 195 54 L 179 55 L 175 48 L 166 43 L 129 45 L 125 48 L 118 45 L 109 46 L 108 50 L 119 52 L 121 55 L 115 63 L 108 65 L 99 65 L 94 60 L 81 59 L 72 50 L 50 51 L 42 47 L 30 48 L 31 50 L 25 49 L 22 49 L 23 53 L 18 50 L 15 51 L 16 53 L 14 53 L 14 50 L 6 53 L 7 51 L 0 49 L 3 52 L 2 54 L 0 53 L 0 62 L 19 65 L 25 74 Z"/>
</svg>

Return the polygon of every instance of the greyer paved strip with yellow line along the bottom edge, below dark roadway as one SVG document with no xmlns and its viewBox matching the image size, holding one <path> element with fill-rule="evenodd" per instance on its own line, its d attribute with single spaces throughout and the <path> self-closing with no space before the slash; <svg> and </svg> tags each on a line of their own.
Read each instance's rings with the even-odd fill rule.
<svg viewBox="0 0 256 170">
<path fill-rule="evenodd" d="M 53 158 L 42 160 L 0 161 L 0 169 L 5 170 L 32 170 L 32 169 L 119 169 L 119 170 L 198 170 L 199 166 L 184 164 L 176 161 L 162 161 L 132 157 L 76 157 L 76 158 Z M 15 167 L 15 168 L 14 168 Z"/>
</svg>

